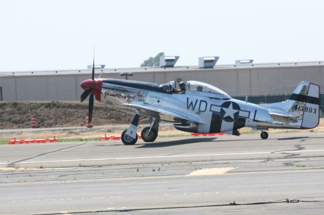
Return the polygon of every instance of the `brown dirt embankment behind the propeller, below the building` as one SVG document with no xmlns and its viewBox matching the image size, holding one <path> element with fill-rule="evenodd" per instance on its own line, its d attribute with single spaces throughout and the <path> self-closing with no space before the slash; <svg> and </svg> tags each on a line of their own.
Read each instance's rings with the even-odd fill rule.
<svg viewBox="0 0 324 215">
<path fill-rule="evenodd" d="M 88 102 L 0 102 L 0 129 L 30 128 L 31 118 L 36 118 L 38 128 L 85 126 Z M 130 114 L 112 110 L 95 103 L 92 124 L 129 124 Z"/>
</svg>

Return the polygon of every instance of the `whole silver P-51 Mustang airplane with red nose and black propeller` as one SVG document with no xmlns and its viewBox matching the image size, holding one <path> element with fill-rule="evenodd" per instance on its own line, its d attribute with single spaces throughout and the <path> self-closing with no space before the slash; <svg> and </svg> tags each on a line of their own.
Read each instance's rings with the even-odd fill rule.
<svg viewBox="0 0 324 215">
<path fill-rule="evenodd" d="M 184 94 L 173 92 L 174 81 L 154 84 L 132 80 L 104 79 L 101 76 L 81 83 L 80 96 L 89 98 L 89 122 L 92 120 L 94 96 L 110 108 L 135 114 L 129 128 L 121 134 L 126 145 L 137 141 L 139 117 L 152 119 L 142 130 L 142 139 L 153 142 L 160 121 L 173 122 L 181 131 L 194 133 L 224 132 L 240 135 L 238 129 L 251 127 L 267 139 L 268 128 L 310 129 L 319 122 L 319 86 L 301 82 L 291 97 L 283 102 L 254 104 L 230 97 L 219 88 L 199 81 L 187 81 Z"/>
</svg>

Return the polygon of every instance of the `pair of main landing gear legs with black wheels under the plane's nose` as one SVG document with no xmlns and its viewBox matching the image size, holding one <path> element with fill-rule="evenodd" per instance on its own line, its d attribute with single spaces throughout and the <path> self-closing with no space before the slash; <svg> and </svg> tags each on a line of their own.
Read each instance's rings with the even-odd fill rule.
<svg viewBox="0 0 324 215">
<path fill-rule="evenodd" d="M 126 129 L 123 133 L 121 133 L 121 141 L 123 141 L 125 145 L 134 145 L 137 142 L 138 136 L 136 132 L 138 120 L 139 115 L 136 114 L 130 127 Z M 141 136 L 145 142 L 153 142 L 156 139 L 158 133 L 158 123 L 159 119 L 154 118 L 149 127 L 143 128 Z"/>
</svg>

